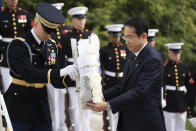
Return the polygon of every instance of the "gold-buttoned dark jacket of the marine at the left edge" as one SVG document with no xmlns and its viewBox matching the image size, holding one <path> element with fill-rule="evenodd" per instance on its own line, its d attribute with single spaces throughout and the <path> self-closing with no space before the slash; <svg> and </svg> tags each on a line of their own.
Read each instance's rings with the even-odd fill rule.
<svg viewBox="0 0 196 131">
<path fill-rule="evenodd" d="M 7 67 L 6 50 L 10 38 L 19 37 L 31 29 L 29 13 L 21 8 L 11 10 L 2 8 L 2 21 L 0 21 L 0 66 Z"/>
</svg>

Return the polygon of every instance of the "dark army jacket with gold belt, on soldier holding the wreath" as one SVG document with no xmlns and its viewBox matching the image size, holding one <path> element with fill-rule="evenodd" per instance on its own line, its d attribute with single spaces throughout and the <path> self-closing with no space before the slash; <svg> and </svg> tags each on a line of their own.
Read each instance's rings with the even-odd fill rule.
<svg viewBox="0 0 196 131">
<path fill-rule="evenodd" d="M 57 46 L 47 41 L 41 47 L 31 32 L 23 38 L 30 46 L 32 62 L 24 41 L 12 41 L 8 47 L 8 64 L 13 81 L 5 94 L 8 113 L 12 122 L 50 123 L 46 84 L 59 88 L 66 86 L 56 65 Z"/>
</svg>

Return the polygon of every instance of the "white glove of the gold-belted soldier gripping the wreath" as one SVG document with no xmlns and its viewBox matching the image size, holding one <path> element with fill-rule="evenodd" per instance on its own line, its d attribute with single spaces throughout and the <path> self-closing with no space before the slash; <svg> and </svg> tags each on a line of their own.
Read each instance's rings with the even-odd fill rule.
<svg viewBox="0 0 196 131">
<path fill-rule="evenodd" d="M 66 75 L 69 75 L 72 80 L 76 80 L 76 78 L 79 76 L 78 67 L 75 64 L 73 64 L 61 69 L 60 77 Z"/>
</svg>

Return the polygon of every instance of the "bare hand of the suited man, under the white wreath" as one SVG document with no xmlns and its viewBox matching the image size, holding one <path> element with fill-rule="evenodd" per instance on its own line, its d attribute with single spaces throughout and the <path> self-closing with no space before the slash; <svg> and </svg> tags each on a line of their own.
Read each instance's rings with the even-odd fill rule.
<svg viewBox="0 0 196 131">
<path fill-rule="evenodd" d="M 96 112 L 101 112 L 103 110 L 105 110 L 106 108 L 106 102 L 101 102 L 101 103 L 97 103 L 94 104 L 92 102 L 87 102 L 86 103 L 88 109 L 92 110 L 92 111 L 96 111 Z"/>
</svg>

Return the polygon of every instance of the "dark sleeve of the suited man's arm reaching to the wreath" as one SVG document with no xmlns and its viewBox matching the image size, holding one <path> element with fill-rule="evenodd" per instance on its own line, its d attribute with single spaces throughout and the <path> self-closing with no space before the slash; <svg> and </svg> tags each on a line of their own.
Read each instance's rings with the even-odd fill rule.
<svg viewBox="0 0 196 131">
<path fill-rule="evenodd" d="M 140 100 L 144 99 L 150 93 L 152 88 L 154 88 L 153 84 L 157 81 L 157 78 L 160 78 L 160 75 L 160 60 L 151 59 L 144 63 L 136 87 L 130 88 L 125 93 L 109 101 L 112 112 L 116 113 L 125 109 L 127 106 L 130 106 L 130 103 L 140 102 Z"/>
</svg>

